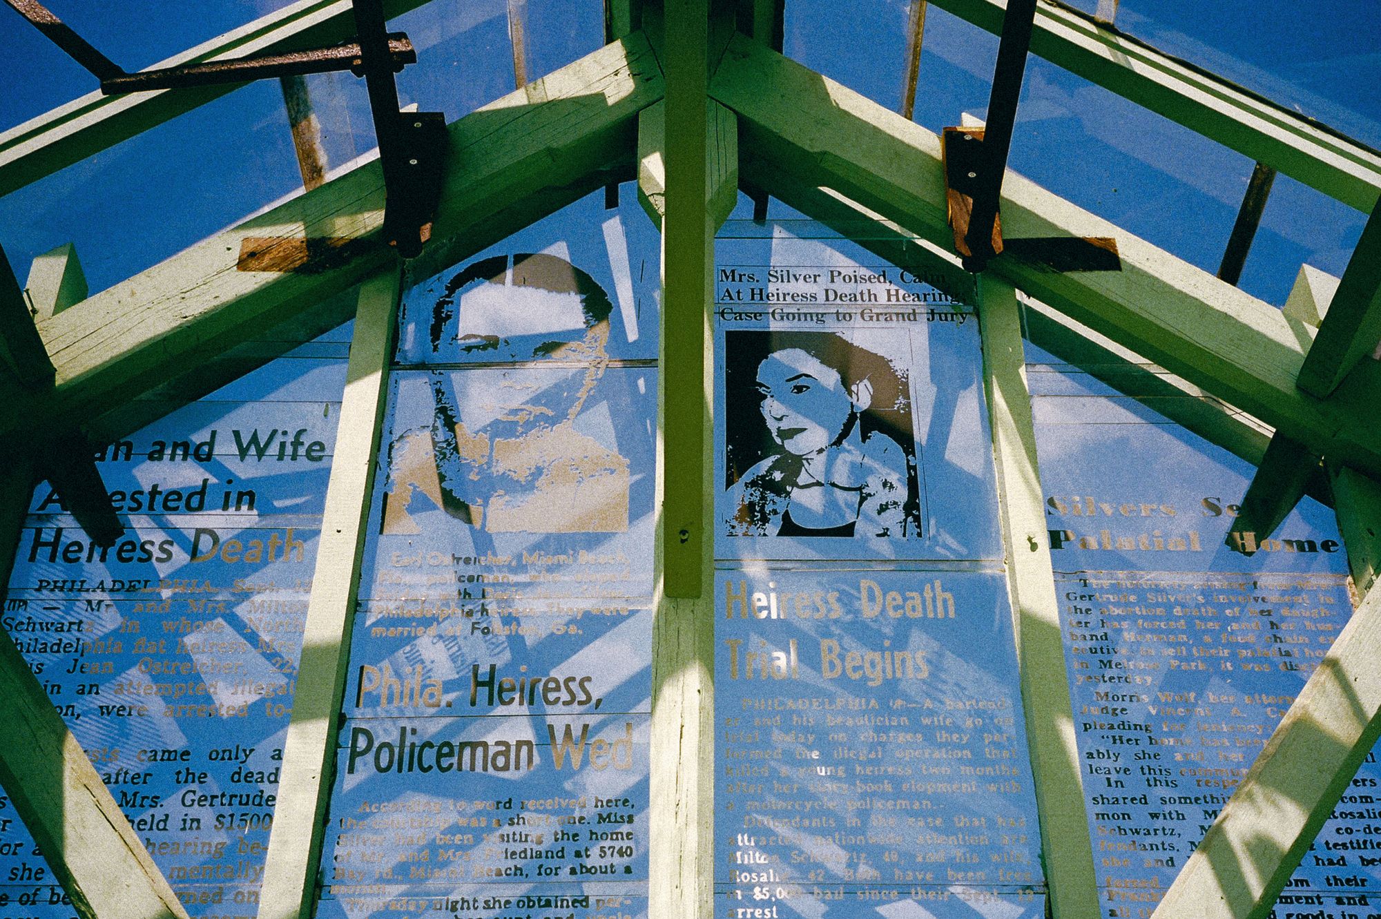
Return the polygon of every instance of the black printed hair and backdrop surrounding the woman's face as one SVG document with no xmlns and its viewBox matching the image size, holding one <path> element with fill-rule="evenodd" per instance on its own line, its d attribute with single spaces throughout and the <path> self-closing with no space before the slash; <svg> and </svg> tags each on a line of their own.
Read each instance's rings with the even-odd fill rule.
<svg viewBox="0 0 1381 919">
<path fill-rule="evenodd" d="M 802 350 L 840 374 L 845 391 L 869 381 L 873 400 L 858 413 L 865 439 L 884 433 L 898 443 L 907 457 L 906 515 L 918 519 L 920 501 L 916 483 L 916 435 L 911 428 L 911 399 L 906 373 L 889 360 L 860 348 L 842 335 L 827 331 L 739 330 L 724 334 L 725 384 L 725 487 L 762 460 L 782 454 L 762 419 L 762 393 L 758 392 L 758 367 L 769 355 Z M 791 462 L 791 457 L 783 457 Z"/>
</svg>

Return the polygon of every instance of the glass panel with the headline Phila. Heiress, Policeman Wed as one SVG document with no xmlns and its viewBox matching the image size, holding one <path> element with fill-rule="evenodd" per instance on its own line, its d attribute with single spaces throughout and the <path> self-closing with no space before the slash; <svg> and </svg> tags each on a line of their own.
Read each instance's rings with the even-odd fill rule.
<svg viewBox="0 0 1381 919">
<path fill-rule="evenodd" d="M 659 240 L 602 197 L 403 295 L 322 916 L 645 912 Z"/>
</svg>

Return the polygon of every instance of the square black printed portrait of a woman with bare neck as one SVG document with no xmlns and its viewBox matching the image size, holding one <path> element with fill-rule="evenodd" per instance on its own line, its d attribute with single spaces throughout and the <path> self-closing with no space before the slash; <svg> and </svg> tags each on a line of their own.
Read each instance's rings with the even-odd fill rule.
<svg viewBox="0 0 1381 919">
<path fill-rule="evenodd" d="M 834 333 L 725 335 L 729 535 L 917 538 L 906 379 Z"/>
</svg>

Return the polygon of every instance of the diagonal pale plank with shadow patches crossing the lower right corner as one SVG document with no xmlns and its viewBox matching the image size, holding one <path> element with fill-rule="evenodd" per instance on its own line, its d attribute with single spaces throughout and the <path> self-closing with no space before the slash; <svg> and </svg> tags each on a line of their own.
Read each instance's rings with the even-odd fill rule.
<svg viewBox="0 0 1381 919">
<path fill-rule="evenodd" d="M 1367 593 L 1155 919 L 1265 919 L 1381 735 L 1381 591 Z"/>
</svg>

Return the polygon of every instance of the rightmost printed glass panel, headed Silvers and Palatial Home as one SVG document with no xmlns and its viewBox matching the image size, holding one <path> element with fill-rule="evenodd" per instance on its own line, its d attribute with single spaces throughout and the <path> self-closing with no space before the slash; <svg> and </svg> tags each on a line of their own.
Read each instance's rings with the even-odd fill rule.
<svg viewBox="0 0 1381 919">
<path fill-rule="evenodd" d="M 1346 622 L 1346 557 L 1308 497 L 1272 534 L 1230 534 L 1250 464 L 1027 360 L 1101 898 L 1149 911 Z M 1381 890 L 1378 780 L 1373 753 L 1280 907 L 1337 918 Z"/>
</svg>

